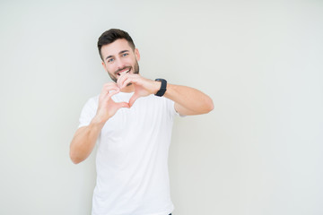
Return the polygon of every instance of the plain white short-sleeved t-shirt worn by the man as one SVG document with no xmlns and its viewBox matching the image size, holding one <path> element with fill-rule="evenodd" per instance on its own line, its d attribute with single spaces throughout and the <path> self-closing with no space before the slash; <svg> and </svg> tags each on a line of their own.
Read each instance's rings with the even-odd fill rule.
<svg viewBox="0 0 323 215">
<path fill-rule="evenodd" d="M 128 101 L 133 93 L 112 99 Z M 80 125 L 89 125 L 99 96 L 83 107 Z M 170 99 L 150 95 L 136 99 L 133 107 L 120 108 L 101 130 L 96 157 L 97 183 L 92 215 L 169 215 L 168 152 L 173 117 Z"/>
</svg>

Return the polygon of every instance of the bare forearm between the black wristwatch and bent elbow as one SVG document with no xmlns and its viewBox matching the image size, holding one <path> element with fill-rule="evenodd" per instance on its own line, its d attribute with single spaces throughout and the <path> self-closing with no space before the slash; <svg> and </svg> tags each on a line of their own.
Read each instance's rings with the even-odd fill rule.
<svg viewBox="0 0 323 215">
<path fill-rule="evenodd" d="M 186 86 L 167 84 L 164 97 L 175 102 L 175 108 L 180 115 L 206 114 L 214 109 L 213 100 L 209 96 Z"/>
</svg>

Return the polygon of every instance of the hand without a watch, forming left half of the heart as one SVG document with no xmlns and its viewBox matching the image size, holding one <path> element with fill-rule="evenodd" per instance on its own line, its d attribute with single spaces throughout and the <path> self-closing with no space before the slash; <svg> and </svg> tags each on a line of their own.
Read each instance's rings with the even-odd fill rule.
<svg viewBox="0 0 323 215">
<path fill-rule="evenodd" d="M 115 102 L 111 97 L 118 94 L 120 89 L 117 83 L 109 82 L 103 85 L 99 97 L 99 107 L 93 120 L 99 124 L 105 124 L 107 120 L 114 116 L 121 107 L 129 107 L 127 102 Z"/>
</svg>

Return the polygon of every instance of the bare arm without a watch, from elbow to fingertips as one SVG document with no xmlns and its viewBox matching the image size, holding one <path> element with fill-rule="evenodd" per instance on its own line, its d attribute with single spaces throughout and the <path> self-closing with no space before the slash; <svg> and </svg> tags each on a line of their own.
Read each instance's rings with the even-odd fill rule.
<svg viewBox="0 0 323 215">
<path fill-rule="evenodd" d="M 111 91 L 113 90 L 113 91 Z M 116 83 L 107 83 L 103 86 L 99 107 L 90 125 L 80 127 L 74 134 L 70 144 L 70 158 L 74 164 L 82 162 L 91 154 L 100 131 L 110 117 L 114 116 L 121 107 L 129 107 L 126 102 L 114 102 L 111 97 L 119 92 Z"/>
</svg>

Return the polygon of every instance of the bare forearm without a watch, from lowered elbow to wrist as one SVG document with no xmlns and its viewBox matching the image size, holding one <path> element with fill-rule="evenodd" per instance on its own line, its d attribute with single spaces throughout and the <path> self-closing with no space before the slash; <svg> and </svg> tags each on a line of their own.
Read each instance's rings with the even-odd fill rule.
<svg viewBox="0 0 323 215">
<path fill-rule="evenodd" d="M 96 123 L 79 128 L 70 145 L 70 158 L 74 164 L 82 162 L 91 154 L 104 124 Z"/>
</svg>

